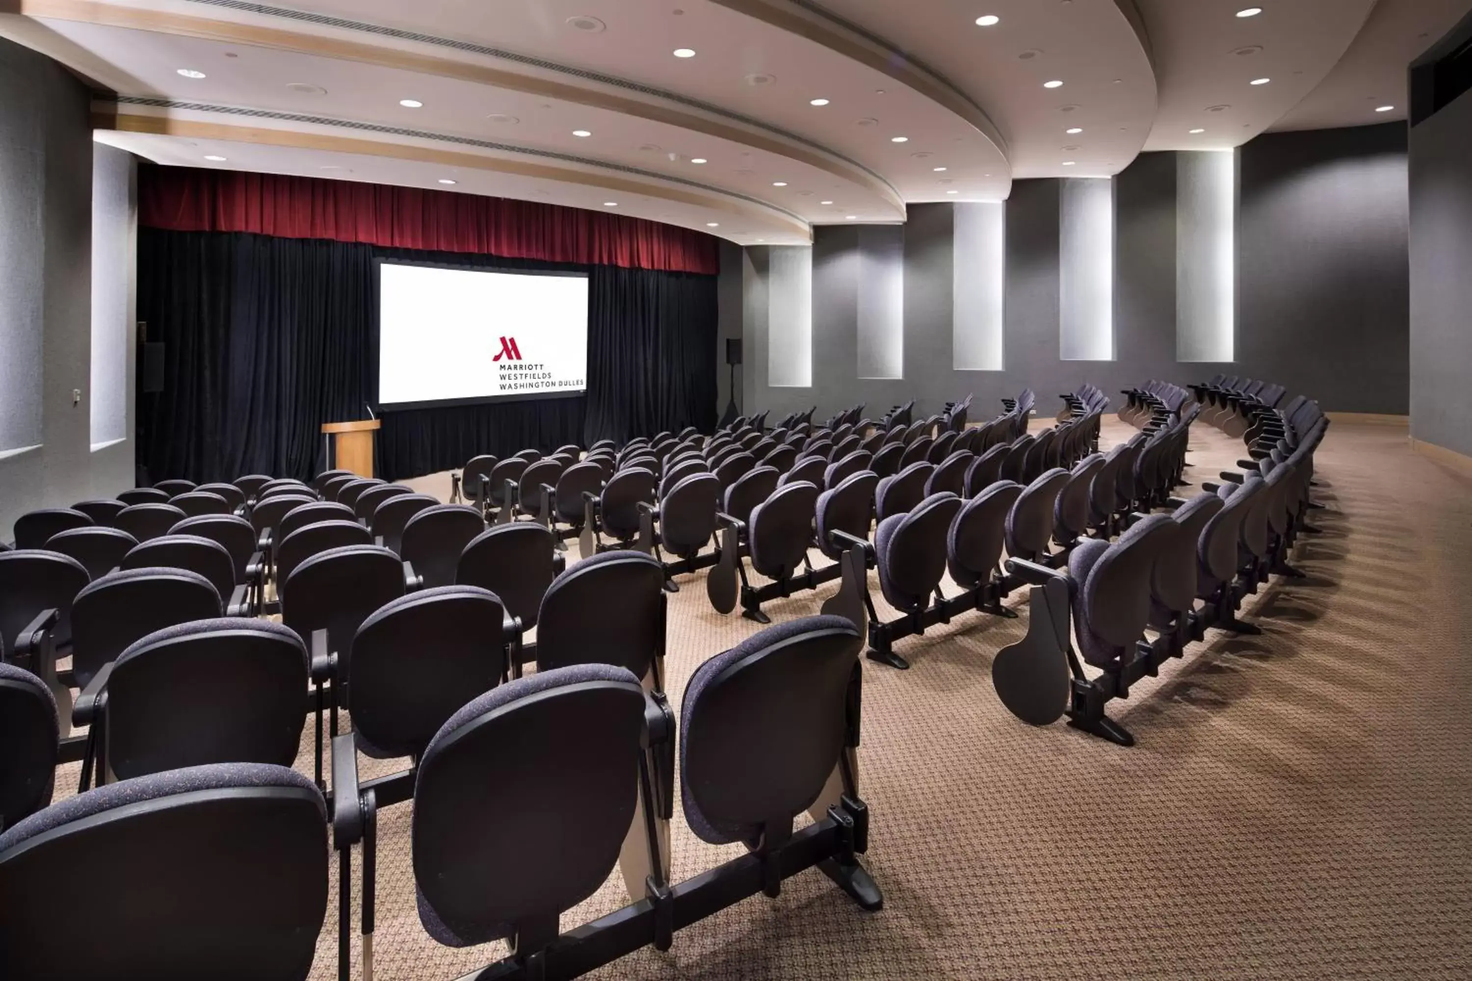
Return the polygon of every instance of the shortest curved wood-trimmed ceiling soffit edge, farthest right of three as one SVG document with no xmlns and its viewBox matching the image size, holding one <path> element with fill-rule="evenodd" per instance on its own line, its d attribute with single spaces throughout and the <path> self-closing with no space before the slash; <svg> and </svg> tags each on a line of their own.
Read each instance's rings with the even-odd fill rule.
<svg viewBox="0 0 1472 981">
<path fill-rule="evenodd" d="M 935 69 L 899 50 L 885 38 L 866 31 L 811 0 L 710 0 L 774 28 L 796 34 L 843 57 L 883 72 L 930 101 L 951 110 L 980 132 L 1002 156 L 1011 160 L 1007 137 L 992 118 L 966 93 Z M 898 3 L 898 0 L 895 0 Z"/>
</svg>

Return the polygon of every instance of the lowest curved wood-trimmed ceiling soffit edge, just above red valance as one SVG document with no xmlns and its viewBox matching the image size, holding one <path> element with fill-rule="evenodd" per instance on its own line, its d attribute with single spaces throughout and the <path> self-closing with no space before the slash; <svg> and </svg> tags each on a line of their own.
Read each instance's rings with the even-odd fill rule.
<svg viewBox="0 0 1472 981">
<path fill-rule="evenodd" d="M 237 112 L 250 118 L 269 118 L 284 122 L 293 122 L 297 125 L 314 126 L 314 125 L 342 125 L 340 121 L 316 121 L 311 116 L 297 116 L 296 113 L 265 113 L 258 110 L 231 110 L 228 106 L 205 106 L 194 103 L 174 103 L 166 99 L 132 99 L 119 97 L 122 104 L 135 104 L 140 107 L 160 107 L 155 103 L 172 103 L 175 109 L 185 112 Z M 110 106 L 110 104 L 107 104 Z M 162 115 L 149 113 L 119 113 L 116 116 L 109 115 L 107 106 L 102 106 L 94 115 L 94 122 L 99 128 L 115 129 L 118 132 L 135 132 L 144 135 L 166 135 L 166 137 L 185 137 L 194 140 L 222 140 L 231 143 L 250 143 L 261 146 L 275 146 L 275 147 L 290 147 L 290 149 L 305 149 L 305 150 L 321 150 L 327 153 L 352 153 L 361 156 L 372 157 L 393 157 L 399 160 L 411 160 L 418 163 L 439 163 L 456 168 L 465 168 L 471 171 L 487 171 L 493 174 L 508 174 L 515 176 L 542 178 L 551 181 L 561 181 L 565 184 L 580 184 L 587 187 L 598 187 L 606 191 L 621 191 L 630 194 L 645 194 L 649 197 L 661 197 L 670 201 L 677 201 L 682 204 L 692 204 L 696 207 L 705 207 L 711 210 L 724 212 L 737 216 L 754 216 L 765 221 L 776 221 L 783 225 L 789 232 L 801 235 L 805 240 L 811 240 L 811 226 L 805 219 L 790 212 L 779 207 L 773 207 L 767 201 L 757 199 L 749 199 L 739 194 L 732 194 L 723 191 L 721 188 L 705 187 L 695 182 L 684 182 L 687 188 L 670 188 L 670 187 L 654 187 L 645 184 L 634 178 L 657 178 L 664 179 L 658 174 L 646 174 L 634 168 L 618 168 L 623 174 L 608 174 L 606 168 L 596 160 L 584 162 L 577 157 L 570 157 L 565 154 L 542 153 L 545 157 L 551 157 L 555 162 L 539 162 L 539 160 L 520 160 L 508 157 L 493 157 L 484 153 L 473 153 L 468 150 L 453 150 L 443 146 L 424 146 L 422 143 L 402 143 L 402 141 L 386 141 L 372 140 L 365 137 L 346 137 L 334 132 L 319 132 L 319 131 L 305 131 L 305 129 L 278 129 L 269 126 L 250 126 L 250 125 L 234 125 L 225 122 L 215 122 L 209 119 L 180 119 Z M 425 143 L 443 143 L 446 137 L 434 132 L 420 132 L 415 129 L 402 129 L 393 126 L 378 126 L 371 124 L 355 124 L 356 128 L 364 132 L 371 132 L 377 135 L 389 135 L 421 140 Z M 493 149 L 499 144 L 489 144 L 489 141 L 481 140 L 462 140 L 449 138 L 459 146 L 474 147 L 474 149 Z M 521 153 L 518 147 L 506 147 L 511 151 Z M 596 172 L 587 172 L 576 169 L 574 166 L 558 166 L 590 163 L 598 166 Z"/>
</svg>

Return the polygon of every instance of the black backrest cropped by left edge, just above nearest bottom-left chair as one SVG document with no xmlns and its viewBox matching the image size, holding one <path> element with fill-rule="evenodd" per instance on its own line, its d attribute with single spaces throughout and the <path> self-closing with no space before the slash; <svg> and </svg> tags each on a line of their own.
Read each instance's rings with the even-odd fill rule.
<svg viewBox="0 0 1472 981">
<path fill-rule="evenodd" d="M 52 803 L 60 737 L 50 688 L 0 662 L 0 831 Z"/>
</svg>

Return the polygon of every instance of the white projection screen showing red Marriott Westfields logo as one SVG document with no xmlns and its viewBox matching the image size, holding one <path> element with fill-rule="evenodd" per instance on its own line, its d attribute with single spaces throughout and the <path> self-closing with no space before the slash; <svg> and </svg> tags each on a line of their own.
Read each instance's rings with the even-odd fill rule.
<svg viewBox="0 0 1472 981">
<path fill-rule="evenodd" d="M 378 404 L 587 391 L 587 275 L 378 263 Z"/>
</svg>

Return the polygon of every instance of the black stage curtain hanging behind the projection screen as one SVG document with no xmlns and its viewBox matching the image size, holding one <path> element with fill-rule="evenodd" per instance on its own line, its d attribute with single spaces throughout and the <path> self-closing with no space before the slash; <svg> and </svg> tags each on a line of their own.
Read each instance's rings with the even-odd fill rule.
<svg viewBox="0 0 1472 981">
<path fill-rule="evenodd" d="M 715 277 L 140 228 L 138 319 L 165 344 L 163 391 L 138 396 L 149 478 L 321 471 L 321 424 L 367 418 L 377 385 L 374 259 L 589 274 L 587 396 L 383 413 L 387 479 L 477 453 L 715 427 Z"/>
</svg>

